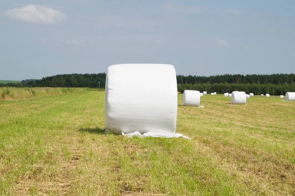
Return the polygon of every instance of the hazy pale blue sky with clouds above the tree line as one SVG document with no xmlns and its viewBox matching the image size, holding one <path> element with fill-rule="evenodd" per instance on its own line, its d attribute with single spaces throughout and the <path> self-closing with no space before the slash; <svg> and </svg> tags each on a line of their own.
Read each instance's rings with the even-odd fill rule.
<svg viewBox="0 0 295 196">
<path fill-rule="evenodd" d="M 295 70 L 295 0 L 0 0 L 0 79 L 172 64 L 177 74 Z"/>
</svg>

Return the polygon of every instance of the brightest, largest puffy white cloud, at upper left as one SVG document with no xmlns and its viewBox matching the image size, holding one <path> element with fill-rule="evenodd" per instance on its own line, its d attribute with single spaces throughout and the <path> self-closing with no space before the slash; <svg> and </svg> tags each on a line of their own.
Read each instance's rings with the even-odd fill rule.
<svg viewBox="0 0 295 196">
<path fill-rule="evenodd" d="M 15 20 L 38 24 L 54 24 L 67 18 L 66 14 L 59 10 L 33 4 L 20 8 L 8 9 L 4 12 L 4 15 Z"/>
</svg>

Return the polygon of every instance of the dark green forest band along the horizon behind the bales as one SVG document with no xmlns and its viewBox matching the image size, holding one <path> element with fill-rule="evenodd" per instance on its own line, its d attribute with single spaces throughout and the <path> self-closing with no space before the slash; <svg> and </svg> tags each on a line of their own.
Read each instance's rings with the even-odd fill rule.
<svg viewBox="0 0 295 196">
<path fill-rule="evenodd" d="M 105 81 L 106 73 L 73 73 L 43 77 L 42 79 L 26 79 L 17 84 L 0 84 L 0 87 L 100 87 L 104 89 Z M 207 91 L 208 93 L 216 92 L 221 94 L 245 91 L 247 94 L 254 93 L 255 95 L 266 93 L 284 95 L 286 92 L 295 92 L 295 74 L 177 75 L 177 88 L 181 93 L 184 90 L 198 90 L 200 92 Z"/>
</svg>

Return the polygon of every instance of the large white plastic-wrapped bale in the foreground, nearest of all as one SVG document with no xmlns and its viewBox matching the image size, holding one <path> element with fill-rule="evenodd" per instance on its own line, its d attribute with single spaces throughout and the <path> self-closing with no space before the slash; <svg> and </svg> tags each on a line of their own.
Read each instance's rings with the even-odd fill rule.
<svg viewBox="0 0 295 196">
<path fill-rule="evenodd" d="M 105 89 L 107 131 L 174 134 L 176 121 L 177 80 L 173 65 L 121 64 L 108 67 Z"/>
</svg>

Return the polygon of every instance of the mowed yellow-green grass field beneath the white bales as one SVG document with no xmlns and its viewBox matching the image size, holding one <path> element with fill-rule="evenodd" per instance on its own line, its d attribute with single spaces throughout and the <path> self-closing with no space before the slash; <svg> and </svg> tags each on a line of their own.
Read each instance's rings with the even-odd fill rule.
<svg viewBox="0 0 295 196">
<path fill-rule="evenodd" d="M 180 94 L 191 140 L 105 133 L 104 92 L 2 100 L 0 195 L 294 195 L 295 102 L 281 100 Z"/>
</svg>

